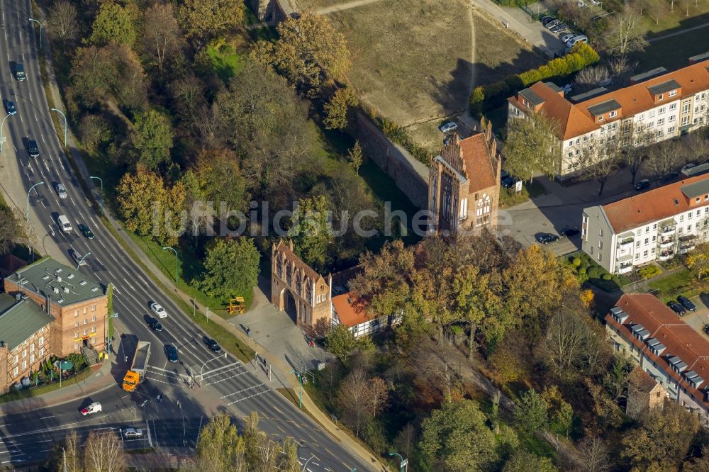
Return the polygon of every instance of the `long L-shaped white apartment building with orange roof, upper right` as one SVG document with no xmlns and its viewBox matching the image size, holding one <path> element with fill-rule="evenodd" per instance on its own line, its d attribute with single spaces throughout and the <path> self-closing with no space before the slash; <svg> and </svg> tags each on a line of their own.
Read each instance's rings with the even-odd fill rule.
<svg viewBox="0 0 709 472">
<path fill-rule="evenodd" d="M 565 179 L 581 170 L 584 156 L 603 155 L 598 150 L 609 140 L 625 147 L 652 144 L 707 125 L 709 52 L 691 57 L 683 69 L 638 74 L 623 89 L 599 87 L 567 98 L 551 82 L 537 82 L 508 99 L 508 123 L 532 112 L 558 123 L 557 174 Z"/>
</svg>

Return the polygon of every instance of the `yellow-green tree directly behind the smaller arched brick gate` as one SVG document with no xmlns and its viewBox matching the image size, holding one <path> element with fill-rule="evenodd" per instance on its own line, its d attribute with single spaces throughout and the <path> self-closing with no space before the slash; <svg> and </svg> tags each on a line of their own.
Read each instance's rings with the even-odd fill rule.
<svg viewBox="0 0 709 472">
<path fill-rule="evenodd" d="M 306 264 L 323 271 L 330 261 L 328 247 L 333 241 L 329 224 L 329 205 L 325 196 L 301 198 L 293 213 L 288 237 Z"/>
</svg>

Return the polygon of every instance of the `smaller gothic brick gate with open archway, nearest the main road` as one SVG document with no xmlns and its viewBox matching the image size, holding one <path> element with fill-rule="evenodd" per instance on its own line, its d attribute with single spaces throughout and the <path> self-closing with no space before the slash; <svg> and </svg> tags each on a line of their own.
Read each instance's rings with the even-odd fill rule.
<svg viewBox="0 0 709 472">
<path fill-rule="evenodd" d="M 293 252 L 293 241 L 283 240 L 271 249 L 271 303 L 279 310 L 295 309 L 298 327 L 316 330 L 329 327 L 332 319 L 333 277 L 328 280 L 311 269 Z M 295 307 L 289 306 L 294 303 Z M 319 330 L 319 329 L 318 329 Z"/>
</svg>

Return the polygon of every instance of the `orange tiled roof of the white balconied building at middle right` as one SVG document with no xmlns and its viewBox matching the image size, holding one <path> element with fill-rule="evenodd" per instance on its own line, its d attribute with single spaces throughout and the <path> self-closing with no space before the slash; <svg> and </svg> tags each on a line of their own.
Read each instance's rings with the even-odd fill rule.
<svg viewBox="0 0 709 472">
<path fill-rule="evenodd" d="M 616 233 L 631 230 L 645 223 L 670 218 L 690 208 L 707 206 L 709 201 L 702 200 L 700 205 L 690 207 L 691 202 L 681 191 L 683 186 L 705 179 L 709 179 L 709 174 L 689 177 L 674 184 L 608 203 L 603 206 L 603 210 Z"/>
</svg>

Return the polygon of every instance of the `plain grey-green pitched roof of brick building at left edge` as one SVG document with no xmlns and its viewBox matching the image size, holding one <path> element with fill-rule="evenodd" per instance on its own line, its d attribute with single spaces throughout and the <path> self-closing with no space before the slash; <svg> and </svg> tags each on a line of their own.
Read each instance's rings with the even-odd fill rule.
<svg viewBox="0 0 709 472">
<path fill-rule="evenodd" d="M 49 325 L 54 317 L 43 312 L 32 300 L 16 300 L 0 293 L 0 341 L 12 351 L 28 337 Z"/>
</svg>

